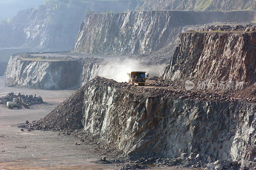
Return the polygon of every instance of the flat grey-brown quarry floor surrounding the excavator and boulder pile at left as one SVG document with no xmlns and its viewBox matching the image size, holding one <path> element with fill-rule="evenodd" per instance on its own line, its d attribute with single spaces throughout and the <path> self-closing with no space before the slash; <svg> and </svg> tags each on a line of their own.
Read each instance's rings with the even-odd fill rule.
<svg viewBox="0 0 256 170">
<path fill-rule="evenodd" d="M 4 87 L 6 79 L 0 78 L 0 96 L 36 94 L 45 104 L 30 106 L 31 109 L 10 110 L 0 104 L 0 169 L 116 169 L 116 165 L 100 165 L 93 145 L 75 145 L 80 142 L 60 132 L 27 129 L 20 131 L 18 124 L 39 120 L 69 97 L 73 90 L 39 90 Z"/>
</svg>

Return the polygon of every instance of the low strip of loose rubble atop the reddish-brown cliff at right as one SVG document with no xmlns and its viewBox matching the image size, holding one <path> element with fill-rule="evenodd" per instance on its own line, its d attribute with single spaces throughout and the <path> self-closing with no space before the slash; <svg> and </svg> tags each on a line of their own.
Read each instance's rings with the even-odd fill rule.
<svg viewBox="0 0 256 170">
<path fill-rule="evenodd" d="M 217 25 L 217 26 L 210 26 L 205 29 L 205 31 L 255 31 L 256 26 L 253 25 L 236 25 L 236 26 L 231 26 L 231 25 Z"/>
</svg>

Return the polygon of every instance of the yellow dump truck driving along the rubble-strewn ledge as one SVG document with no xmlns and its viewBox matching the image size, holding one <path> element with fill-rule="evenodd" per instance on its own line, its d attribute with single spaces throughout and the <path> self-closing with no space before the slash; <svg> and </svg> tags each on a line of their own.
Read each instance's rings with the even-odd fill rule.
<svg viewBox="0 0 256 170">
<path fill-rule="evenodd" d="M 129 76 L 129 83 L 132 85 L 137 86 L 144 86 L 146 80 L 148 79 L 148 74 L 145 74 L 146 72 L 131 72 L 127 73 Z"/>
</svg>

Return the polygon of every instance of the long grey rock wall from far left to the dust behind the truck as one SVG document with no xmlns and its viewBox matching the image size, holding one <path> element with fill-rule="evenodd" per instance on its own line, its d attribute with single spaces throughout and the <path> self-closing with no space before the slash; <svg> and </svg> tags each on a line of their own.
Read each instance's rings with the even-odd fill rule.
<svg viewBox="0 0 256 170">
<path fill-rule="evenodd" d="M 160 76 L 166 67 L 133 65 L 134 63 L 121 65 L 112 60 L 103 61 L 104 59 L 97 58 L 71 58 L 62 61 L 62 58 L 57 57 L 42 59 L 20 53 L 10 57 L 4 77 L 12 78 L 20 86 L 58 90 L 81 87 L 96 76 L 119 82 L 128 81 L 127 73 L 134 70 L 146 71 L 151 77 Z"/>
</svg>

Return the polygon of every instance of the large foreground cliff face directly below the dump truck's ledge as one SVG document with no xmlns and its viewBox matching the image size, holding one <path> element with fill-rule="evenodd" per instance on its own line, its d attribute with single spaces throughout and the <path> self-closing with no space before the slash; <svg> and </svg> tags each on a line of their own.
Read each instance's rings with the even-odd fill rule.
<svg viewBox="0 0 256 170">
<path fill-rule="evenodd" d="M 138 95 L 106 80 L 84 86 L 84 130 L 128 155 L 177 158 L 199 153 L 253 167 L 255 104 Z"/>
</svg>

